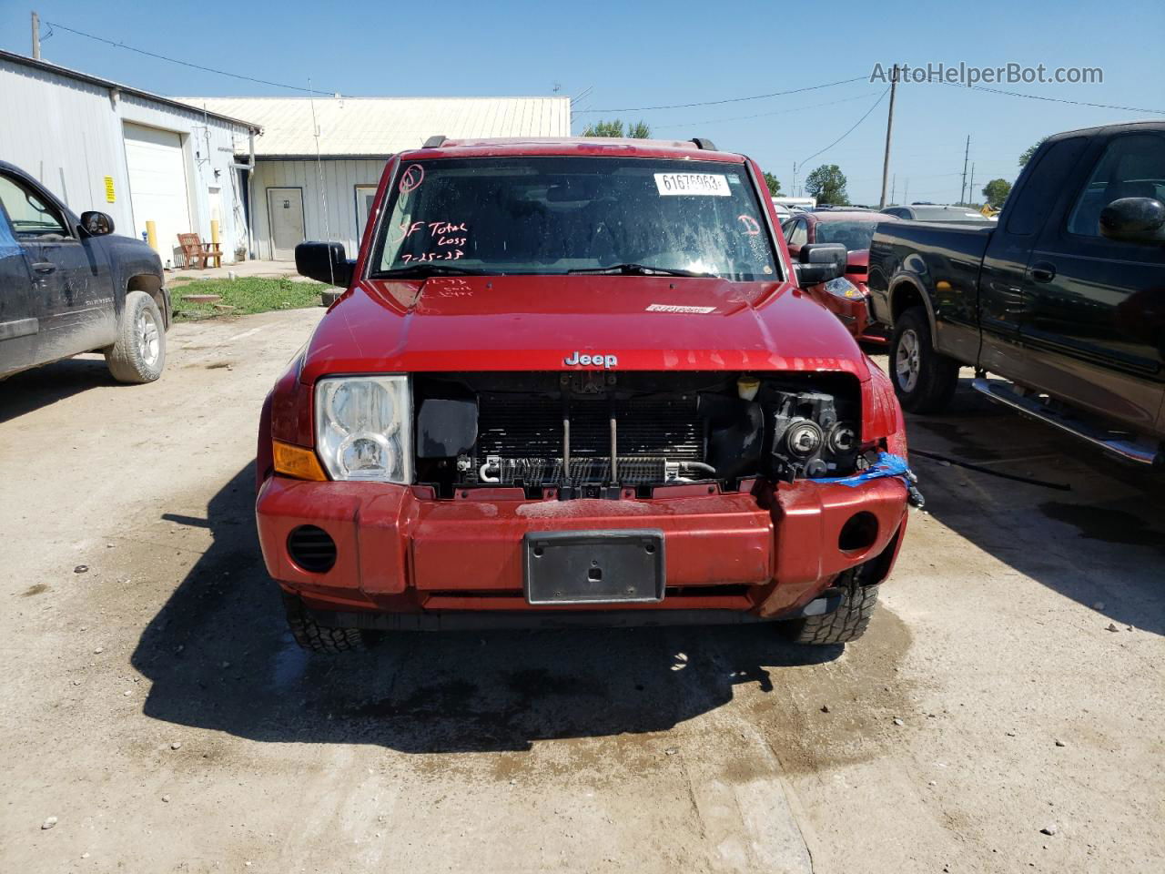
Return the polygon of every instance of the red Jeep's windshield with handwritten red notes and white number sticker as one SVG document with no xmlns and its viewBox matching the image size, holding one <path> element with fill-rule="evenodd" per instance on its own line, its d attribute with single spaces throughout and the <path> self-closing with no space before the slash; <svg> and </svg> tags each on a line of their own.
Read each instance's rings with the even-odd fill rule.
<svg viewBox="0 0 1165 874">
<path fill-rule="evenodd" d="M 746 167 L 622 157 L 408 163 L 372 265 L 373 276 L 422 268 L 781 275 Z"/>
</svg>

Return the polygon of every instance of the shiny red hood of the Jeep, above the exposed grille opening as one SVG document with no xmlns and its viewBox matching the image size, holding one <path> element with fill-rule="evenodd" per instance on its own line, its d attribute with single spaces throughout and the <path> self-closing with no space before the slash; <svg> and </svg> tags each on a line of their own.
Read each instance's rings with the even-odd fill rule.
<svg viewBox="0 0 1165 874">
<path fill-rule="evenodd" d="M 316 329 L 301 379 L 573 369 L 576 352 L 622 371 L 869 375 L 846 327 L 786 282 L 573 275 L 360 282 Z"/>
</svg>

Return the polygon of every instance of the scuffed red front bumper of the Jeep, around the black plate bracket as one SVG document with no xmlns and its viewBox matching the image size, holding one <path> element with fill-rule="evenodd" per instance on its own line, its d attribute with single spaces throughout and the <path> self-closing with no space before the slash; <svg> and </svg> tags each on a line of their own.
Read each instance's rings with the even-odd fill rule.
<svg viewBox="0 0 1165 874">
<path fill-rule="evenodd" d="M 843 552 L 841 528 L 859 512 L 877 519 L 877 536 L 868 549 Z M 562 609 L 524 601 L 521 544 L 527 533 L 658 528 L 669 588 L 748 591 L 729 590 L 727 600 L 701 591 L 636 608 L 735 607 L 776 616 L 887 548 L 905 522 L 905 486 L 889 479 L 857 487 L 804 481 L 756 495 L 432 500 L 408 486 L 271 477 L 260 489 L 256 516 L 271 576 L 330 609 Z M 288 557 L 288 535 L 301 524 L 318 526 L 336 541 L 338 558 L 330 571 L 305 571 Z"/>
</svg>

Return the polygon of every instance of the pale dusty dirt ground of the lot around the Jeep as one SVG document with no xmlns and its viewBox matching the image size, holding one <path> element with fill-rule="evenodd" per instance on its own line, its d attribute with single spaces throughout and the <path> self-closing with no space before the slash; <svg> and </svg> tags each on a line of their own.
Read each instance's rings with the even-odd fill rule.
<svg viewBox="0 0 1165 874">
<path fill-rule="evenodd" d="M 918 458 L 930 512 L 845 651 L 762 626 L 308 658 L 252 459 L 318 317 L 178 325 L 151 386 L 96 358 L 0 386 L 0 871 L 1165 868 L 1142 472 L 963 393 L 915 447 L 1072 491 Z"/>
</svg>

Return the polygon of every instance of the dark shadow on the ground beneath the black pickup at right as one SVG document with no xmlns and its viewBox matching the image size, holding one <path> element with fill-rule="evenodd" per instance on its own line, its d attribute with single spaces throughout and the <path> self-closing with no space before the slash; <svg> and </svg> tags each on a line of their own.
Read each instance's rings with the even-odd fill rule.
<svg viewBox="0 0 1165 874">
<path fill-rule="evenodd" d="M 1095 608 L 1104 625 L 1165 634 L 1165 478 L 1016 415 L 968 380 L 948 413 L 908 415 L 908 436 L 911 450 L 1069 485 L 1059 491 L 911 457 L 926 509 L 946 527 Z"/>
</svg>

